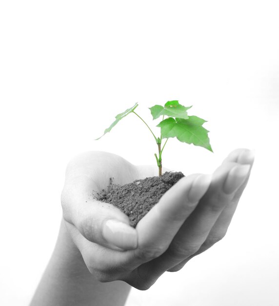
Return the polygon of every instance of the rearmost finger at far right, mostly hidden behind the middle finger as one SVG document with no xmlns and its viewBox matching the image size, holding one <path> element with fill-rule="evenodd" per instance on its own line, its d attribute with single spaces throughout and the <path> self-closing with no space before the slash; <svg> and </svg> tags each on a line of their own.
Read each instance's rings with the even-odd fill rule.
<svg viewBox="0 0 279 306">
<path fill-rule="evenodd" d="M 251 167 L 253 166 L 255 159 L 255 152 L 248 150 L 248 149 L 238 149 L 235 150 L 234 152 L 230 153 L 228 157 L 225 159 L 226 163 L 230 162 L 237 162 L 239 164 L 250 164 Z M 231 203 L 227 205 L 224 210 L 221 212 L 219 218 L 215 222 L 214 226 L 212 227 L 208 237 L 204 241 L 204 243 L 201 245 L 199 250 L 187 258 L 186 260 L 180 262 L 178 265 L 172 267 L 168 271 L 174 272 L 180 270 L 186 262 L 188 262 L 191 258 L 199 255 L 200 253 L 206 251 L 209 249 L 212 245 L 214 245 L 216 242 L 220 241 L 226 234 L 227 229 L 232 221 L 232 218 L 234 216 L 234 213 L 237 209 L 239 199 L 247 185 L 249 176 L 251 173 L 251 168 L 250 171 L 248 172 L 248 175 L 242 185 L 239 187 L 239 189 L 236 191 Z"/>
</svg>

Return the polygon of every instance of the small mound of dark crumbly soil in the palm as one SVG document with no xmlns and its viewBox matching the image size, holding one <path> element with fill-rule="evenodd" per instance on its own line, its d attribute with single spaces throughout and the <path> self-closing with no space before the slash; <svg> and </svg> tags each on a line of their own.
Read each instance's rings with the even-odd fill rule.
<svg viewBox="0 0 279 306">
<path fill-rule="evenodd" d="M 136 227 L 163 194 L 183 176 L 181 172 L 166 172 L 162 176 L 138 179 L 123 186 L 113 184 L 111 178 L 108 191 L 103 189 L 97 197 L 118 207 L 129 217 L 130 225 Z"/>
</svg>

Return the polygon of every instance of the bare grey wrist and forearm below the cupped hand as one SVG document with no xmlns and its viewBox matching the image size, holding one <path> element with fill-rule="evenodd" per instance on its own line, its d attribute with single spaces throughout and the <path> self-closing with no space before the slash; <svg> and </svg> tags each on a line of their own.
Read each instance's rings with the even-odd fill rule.
<svg viewBox="0 0 279 306">
<path fill-rule="evenodd" d="M 123 306 L 130 285 L 100 283 L 92 275 L 62 219 L 58 239 L 30 306 Z"/>
</svg>

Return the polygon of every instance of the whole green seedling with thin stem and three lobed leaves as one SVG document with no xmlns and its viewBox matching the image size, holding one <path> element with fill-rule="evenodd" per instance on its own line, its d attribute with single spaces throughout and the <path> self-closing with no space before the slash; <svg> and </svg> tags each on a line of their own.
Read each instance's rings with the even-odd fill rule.
<svg viewBox="0 0 279 306">
<path fill-rule="evenodd" d="M 147 123 L 135 112 L 135 109 L 138 107 L 136 103 L 130 109 L 126 109 L 124 112 L 118 114 L 115 118 L 116 120 L 107 128 L 103 135 L 111 131 L 111 129 L 124 117 L 130 113 L 137 115 L 140 120 L 147 126 L 149 131 L 151 131 L 156 144 L 158 146 L 158 155 L 155 153 L 157 165 L 159 168 L 159 176 L 162 175 L 162 152 L 165 148 L 165 145 L 169 138 L 176 137 L 179 141 L 185 142 L 188 144 L 194 144 L 195 146 L 203 147 L 211 152 L 211 145 L 209 143 L 208 132 L 202 127 L 203 123 L 207 122 L 197 116 L 188 116 L 187 110 L 190 107 L 185 107 L 180 105 L 177 100 L 168 101 L 164 106 L 155 105 L 150 109 L 153 120 L 158 119 L 162 116 L 162 120 L 157 125 L 160 128 L 160 136 L 156 137 Z M 168 117 L 165 119 L 165 117 Z M 102 136 L 103 136 L 102 135 Z M 95 139 L 98 140 L 99 138 Z M 164 145 L 161 148 L 162 139 L 166 139 Z"/>
</svg>

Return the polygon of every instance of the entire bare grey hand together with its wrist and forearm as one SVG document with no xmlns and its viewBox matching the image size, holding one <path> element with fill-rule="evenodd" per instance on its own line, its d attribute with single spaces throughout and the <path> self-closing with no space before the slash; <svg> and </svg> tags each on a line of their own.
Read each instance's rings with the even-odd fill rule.
<svg viewBox="0 0 279 306">
<path fill-rule="evenodd" d="M 230 153 L 213 175 L 183 177 L 136 229 L 99 192 L 157 174 L 118 155 L 87 152 L 66 169 L 59 238 L 31 306 L 124 305 L 131 286 L 146 290 L 222 239 L 247 184 L 254 154 Z"/>
</svg>

